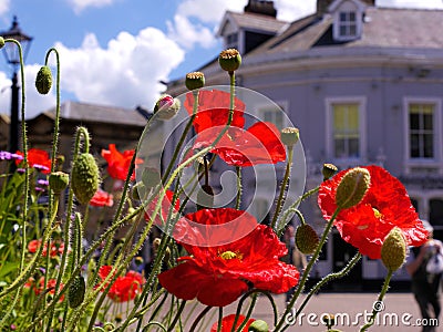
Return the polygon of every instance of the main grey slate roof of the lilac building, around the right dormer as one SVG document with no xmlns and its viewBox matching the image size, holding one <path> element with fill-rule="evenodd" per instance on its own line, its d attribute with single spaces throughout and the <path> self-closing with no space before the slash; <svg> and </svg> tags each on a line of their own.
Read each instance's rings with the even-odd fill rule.
<svg viewBox="0 0 443 332">
<path fill-rule="evenodd" d="M 360 39 L 333 41 L 331 15 L 311 15 L 293 22 L 282 34 L 253 50 L 249 55 L 306 51 L 327 45 L 442 49 L 441 28 L 443 10 L 369 7 Z"/>
</svg>

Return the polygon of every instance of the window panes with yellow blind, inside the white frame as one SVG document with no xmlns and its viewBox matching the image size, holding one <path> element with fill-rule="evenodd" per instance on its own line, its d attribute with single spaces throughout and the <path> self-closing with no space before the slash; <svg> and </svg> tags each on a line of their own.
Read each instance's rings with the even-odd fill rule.
<svg viewBox="0 0 443 332">
<path fill-rule="evenodd" d="M 332 143 L 334 158 L 360 157 L 359 104 L 332 104 Z"/>
</svg>

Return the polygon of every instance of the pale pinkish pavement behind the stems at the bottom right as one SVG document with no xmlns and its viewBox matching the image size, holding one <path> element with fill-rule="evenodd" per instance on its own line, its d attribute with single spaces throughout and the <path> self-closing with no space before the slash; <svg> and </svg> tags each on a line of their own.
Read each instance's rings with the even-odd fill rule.
<svg viewBox="0 0 443 332">
<path fill-rule="evenodd" d="M 383 302 L 377 302 L 377 298 L 378 293 L 319 293 L 310 299 L 303 312 L 286 331 L 327 331 L 327 328 L 321 323 L 321 317 L 324 313 L 336 315 L 336 329 L 341 331 L 359 331 L 372 313 L 373 305 L 379 310 L 379 313 L 375 323 L 368 331 L 421 331 L 419 307 L 411 293 L 388 292 Z M 278 313 L 281 315 L 285 309 L 286 297 L 275 295 L 274 299 L 278 307 Z M 303 299 L 305 295 L 301 295 L 297 304 L 299 305 Z M 225 308 L 224 315 L 235 313 L 236 304 L 237 302 L 235 305 L 231 304 Z M 247 307 L 246 304 L 245 307 Z M 193 307 L 192 303 L 187 303 L 187 305 Z M 190 317 L 198 314 L 204 309 L 204 307 L 199 308 L 197 303 L 195 305 L 196 308 L 189 314 Z M 197 328 L 197 331 L 208 332 L 213 322 L 217 320 L 217 315 L 218 311 L 216 309 L 208 312 L 205 322 Z M 265 320 L 271 326 L 274 314 L 267 297 L 260 295 L 258 298 L 253 318 Z M 291 322 L 291 317 L 288 319 Z M 186 324 L 186 326 L 188 329 L 189 324 Z M 435 331 L 443 332 L 443 326 L 436 328 Z"/>
</svg>

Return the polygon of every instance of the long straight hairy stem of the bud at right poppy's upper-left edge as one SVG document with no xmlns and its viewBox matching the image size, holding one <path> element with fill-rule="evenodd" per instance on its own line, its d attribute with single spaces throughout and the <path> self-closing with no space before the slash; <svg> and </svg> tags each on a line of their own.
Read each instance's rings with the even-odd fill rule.
<svg viewBox="0 0 443 332">
<path fill-rule="evenodd" d="M 291 308 L 293 307 L 293 304 L 296 303 L 298 297 L 300 295 L 300 293 L 301 293 L 302 290 L 305 289 L 305 283 L 306 283 L 306 281 L 308 280 L 309 273 L 310 273 L 310 271 L 311 271 L 313 264 L 316 263 L 316 261 L 317 261 L 317 259 L 318 259 L 318 257 L 319 257 L 319 255 L 320 255 L 321 248 L 323 247 L 324 242 L 326 242 L 327 239 L 328 239 L 328 235 L 329 235 L 329 231 L 330 231 L 331 228 L 332 228 L 333 220 L 336 220 L 336 218 L 337 218 L 337 216 L 338 216 L 338 214 L 339 214 L 340 211 L 341 211 L 341 209 L 340 209 L 340 208 L 337 208 L 336 211 L 333 212 L 331 219 L 330 219 L 329 222 L 327 224 L 327 226 L 326 226 L 326 228 L 324 228 L 324 230 L 323 230 L 323 234 L 322 234 L 322 236 L 321 236 L 321 239 L 320 239 L 320 241 L 319 241 L 319 245 L 317 246 L 316 251 L 313 252 L 311 259 L 309 260 L 308 266 L 306 267 L 305 272 L 303 272 L 303 274 L 302 274 L 302 277 L 301 277 L 301 279 L 300 279 L 300 281 L 299 281 L 299 284 L 298 284 L 298 287 L 297 287 L 297 290 L 296 290 L 296 292 L 293 293 L 292 298 L 290 299 L 289 304 L 286 307 L 285 313 L 284 313 L 282 318 L 280 319 L 280 321 L 278 322 L 278 324 L 277 324 L 277 326 L 276 326 L 276 329 L 275 329 L 275 332 L 279 331 L 279 329 L 280 329 L 284 324 L 285 324 L 286 326 L 285 326 L 281 331 L 285 331 L 285 330 L 288 328 L 288 324 L 285 323 L 285 318 L 287 317 L 287 314 L 289 314 L 289 312 L 290 312 Z"/>
</svg>

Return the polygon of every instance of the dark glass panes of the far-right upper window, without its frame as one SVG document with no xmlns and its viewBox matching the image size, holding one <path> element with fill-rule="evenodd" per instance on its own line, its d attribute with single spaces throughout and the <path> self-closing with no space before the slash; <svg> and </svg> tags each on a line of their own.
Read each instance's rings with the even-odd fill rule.
<svg viewBox="0 0 443 332">
<path fill-rule="evenodd" d="M 434 104 L 409 104 L 410 158 L 434 158 Z"/>
</svg>

